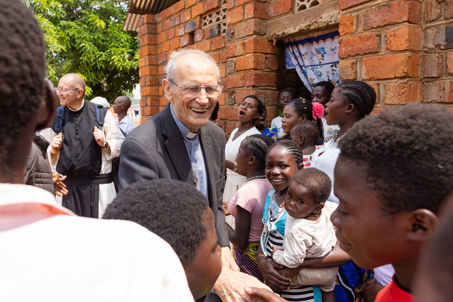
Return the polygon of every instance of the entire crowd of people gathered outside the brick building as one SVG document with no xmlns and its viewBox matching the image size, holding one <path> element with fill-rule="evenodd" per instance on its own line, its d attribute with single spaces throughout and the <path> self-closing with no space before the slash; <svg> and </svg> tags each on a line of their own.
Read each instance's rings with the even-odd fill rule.
<svg viewBox="0 0 453 302">
<path fill-rule="evenodd" d="M 445 106 L 288 86 L 270 128 L 245 97 L 227 141 L 204 51 L 169 56 L 169 104 L 135 127 L 128 97 L 115 119 L 79 74 L 45 79 L 22 1 L 0 0 L 0 40 L 1 301 L 451 300 Z"/>
</svg>

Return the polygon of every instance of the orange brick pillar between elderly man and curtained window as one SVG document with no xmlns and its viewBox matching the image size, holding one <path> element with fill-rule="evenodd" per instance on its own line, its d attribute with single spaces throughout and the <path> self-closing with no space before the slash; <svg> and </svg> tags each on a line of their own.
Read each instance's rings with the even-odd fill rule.
<svg viewBox="0 0 453 302">
<path fill-rule="evenodd" d="M 219 118 L 229 120 L 225 132 L 236 128 L 237 104 L 246 95 L 256 95 L 266 105 L 275 104 L 277 93 L 277 48 L 265 36 L 268 6 L 263 1 L 227 1 L 227 88 Z M 236 104 L 236 106 L 235 106 Z M 268 120 L 275 110 L 268 109 Z"/>
</svg>

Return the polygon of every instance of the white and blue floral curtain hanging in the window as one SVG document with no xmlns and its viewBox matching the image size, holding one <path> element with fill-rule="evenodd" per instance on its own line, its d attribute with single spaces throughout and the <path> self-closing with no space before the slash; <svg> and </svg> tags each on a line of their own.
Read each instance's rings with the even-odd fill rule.
<svg viewBox="0 0 453 302">
<path fill-rule="evenodd" d="M 338 72 L 339 38 L 339 32 L 334 31 L 303 40 L 284 40 L 286 68 L 295 68 L 310 91 L 319 81 L 341 83 Z"/>
</svg>

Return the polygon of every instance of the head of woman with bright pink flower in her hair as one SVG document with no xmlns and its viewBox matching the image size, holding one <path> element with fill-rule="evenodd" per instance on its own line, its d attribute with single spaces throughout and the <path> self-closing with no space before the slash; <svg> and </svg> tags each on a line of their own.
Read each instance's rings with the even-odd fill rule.
<svg viewBox="0 0 453 302">
<path fill-rule="evenodd" d="M 322 133 L 323 124 L 321 118 L 324 115 L 324 108 L 321 104 L 312 103 L 302 97 L 291 100 L 283 109 L 282 129 L 286 134 L 284 138 L 289 138 L 289 133 L 295 125 L 304 120 L 314 121 L 318 126 L 320 134 Z M 320 138 L 317 145 L 322 145 L 323 139 Z"/>
</svg>

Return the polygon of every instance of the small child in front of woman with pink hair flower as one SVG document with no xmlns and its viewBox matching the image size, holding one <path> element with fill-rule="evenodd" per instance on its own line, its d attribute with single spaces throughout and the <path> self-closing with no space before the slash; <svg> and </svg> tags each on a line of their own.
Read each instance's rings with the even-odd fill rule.
<svg viewBox="0 0 453 302">
<path fill-rule="evenodd" d="M 295 125 L 291 132 L 291 141 L 297 143 L 304 154 L 304 168 L 309 168 L 312 163 L 312 154 L 323 145 L 314 143 L 319 137 L 319 128 L 314 122 L 305 120 Z"/>
</svg>

